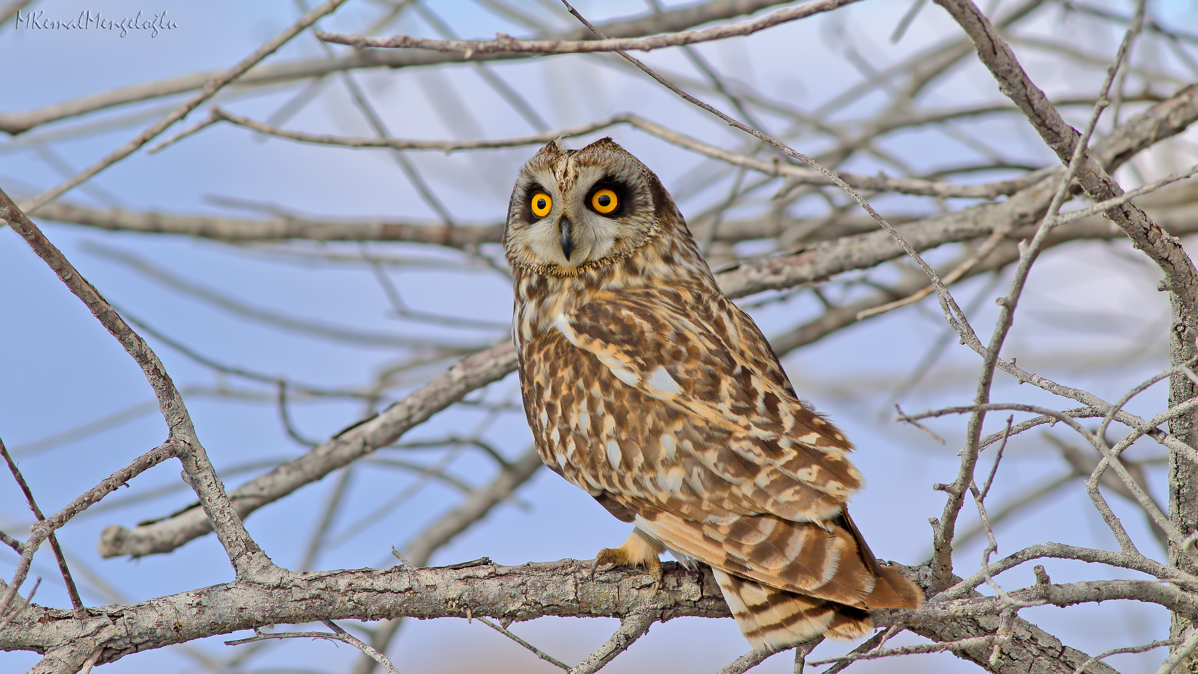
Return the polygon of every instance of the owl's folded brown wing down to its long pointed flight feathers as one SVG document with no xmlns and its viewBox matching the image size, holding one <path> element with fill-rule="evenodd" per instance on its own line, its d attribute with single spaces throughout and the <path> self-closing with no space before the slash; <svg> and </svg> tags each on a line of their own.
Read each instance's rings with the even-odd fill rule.
<svg viewBox="0 0 1198 674">
<path fill-rule="evenodd" d="M 604 293 L 556 321 L 552 360 L 579 383 L 561 381 L 558 399 L 581 410 L 567 413 L 564 474 L 725 571 L 863 608 L 918 606 L 843 510 L 863 483 L 843 434 L 794 397 L 746 314 L 680 293 Z"/>
</svg>

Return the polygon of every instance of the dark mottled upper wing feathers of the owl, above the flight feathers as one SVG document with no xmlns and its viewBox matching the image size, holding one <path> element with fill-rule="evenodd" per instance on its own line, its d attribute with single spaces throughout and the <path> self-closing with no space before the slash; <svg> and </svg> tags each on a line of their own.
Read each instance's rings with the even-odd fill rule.
<svg viewBox="0 0 1198 674">
<path fill-rule="evenodd" d="M 680 300 L 647 290 L 603 293 L 555 324 L 649 398 L 648 409 L 633 410 L 640 427 L 616 420 L 623 428 L 613 429 L 640 451 L 636 473 L 645 486 L 664 485 L 673 504 L 700 506 L 678 512 L 697 519 L 835 517 L 863 486 L 846 455 L 852 445 L 794 398 L 768 342 L 738 307 L 724 297 Z M 731 491 L 722 499 L 695 493 L 706 492 L 704 483 Z"/>
</svg>

